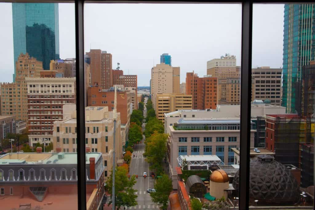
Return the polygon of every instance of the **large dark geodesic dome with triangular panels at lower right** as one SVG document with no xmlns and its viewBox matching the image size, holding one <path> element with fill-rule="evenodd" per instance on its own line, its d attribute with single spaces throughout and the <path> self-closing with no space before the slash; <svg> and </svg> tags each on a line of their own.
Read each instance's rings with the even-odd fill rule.
<svg viewBox="0 0 315 210">
<path fill-rule="evenodd" d="M 239 171 L 233 187 L 238 190 Z M 249 197 L 260 203 L 295 203 L 299 199 L 299 186 L 282 163 L 273 160 L 272 156 L 258 155 L 258 160 L 249 163 Z"/>
</svg>

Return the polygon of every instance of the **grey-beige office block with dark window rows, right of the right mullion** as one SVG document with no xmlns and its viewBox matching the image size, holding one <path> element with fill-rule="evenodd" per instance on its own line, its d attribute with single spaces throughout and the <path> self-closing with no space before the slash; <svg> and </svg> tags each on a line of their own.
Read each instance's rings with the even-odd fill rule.
<svg viewBox="0 0 315 210">
<path fill-rule="evenodd" d="M 255 91 L 253 99 L 270 100 L 272 105 L 281 105 L 282 87 L 281 87 L 282 69 L 271 69 L 269 66 L 262 66 L 252 69 L 252 78 Z"/>
</svg>

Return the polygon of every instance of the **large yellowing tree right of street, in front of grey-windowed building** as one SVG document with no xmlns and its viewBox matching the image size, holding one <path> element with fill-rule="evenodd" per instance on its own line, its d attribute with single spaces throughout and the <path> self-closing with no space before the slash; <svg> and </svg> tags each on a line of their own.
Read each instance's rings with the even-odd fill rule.
<svg viewBox="0 0 315 210">
<path fill-rule="evenodd" d="M 158 133 L 154 131 L 154 133 L 146 139 L 146 147 L 143 156 L 146 157 L 146 162 L 150 163 L 150 169 L 156 170 L 157 175 L 163 172 L 163 159 L 166 156 L 167 147 L 166 140 L 168 134 Z"/>
</svg>

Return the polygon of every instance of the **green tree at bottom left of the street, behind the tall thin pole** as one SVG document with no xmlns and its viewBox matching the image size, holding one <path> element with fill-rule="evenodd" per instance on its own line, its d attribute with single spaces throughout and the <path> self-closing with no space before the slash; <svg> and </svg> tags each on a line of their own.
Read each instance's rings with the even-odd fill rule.
<svg viewBox="0 0 315 210">
<path fill-rule="evenodd" d="M 135 192 L 137 190 L 133 189 L 133 186 L 137 182 L 135 180 L 135 175 L 132 175 L 128 179 L 128 171 L 125 167 L 117 167 L 115 171 L 115 208 L 117 210 L 122 206 L 132 207 L 137 205 L 137 195 Z M 113 184 L 113 175 L 107 180 L 108 192 L 112 195 L 112 184 Z M 109 202 L 108 206 L 112 203 Z"/>
</svg>

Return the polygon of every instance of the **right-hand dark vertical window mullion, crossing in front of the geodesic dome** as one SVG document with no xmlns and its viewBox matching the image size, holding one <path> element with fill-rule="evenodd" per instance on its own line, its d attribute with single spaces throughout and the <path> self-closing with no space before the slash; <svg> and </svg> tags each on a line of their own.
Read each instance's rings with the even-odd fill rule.
<svg viewBox="0 0 315 210">
<path fill-rule="evenodd" d="M 252 66 L 253 3 L 242 3 L 242 58 L 241 58 L 241 130 L 239 168 L 239 209 L 249 208 L 249 148 L 250 148 L 250 102 Z"/>
</svg>

